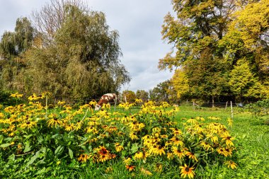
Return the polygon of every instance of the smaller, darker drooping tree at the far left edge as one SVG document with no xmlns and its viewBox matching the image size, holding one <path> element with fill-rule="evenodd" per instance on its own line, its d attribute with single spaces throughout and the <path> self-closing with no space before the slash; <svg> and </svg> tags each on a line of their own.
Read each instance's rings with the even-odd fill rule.
<svg viewBox="0 0 269 179">
<path fill-rule="evenodd" d="M 16 90 L 17 75 L 25 68 L 23 53 L 35 37 L 35 30 L 28 18 L 18 18 L 15 32 L 5 32 L 0 41 L 0 83 L 1 90 Z"/>
</svg>

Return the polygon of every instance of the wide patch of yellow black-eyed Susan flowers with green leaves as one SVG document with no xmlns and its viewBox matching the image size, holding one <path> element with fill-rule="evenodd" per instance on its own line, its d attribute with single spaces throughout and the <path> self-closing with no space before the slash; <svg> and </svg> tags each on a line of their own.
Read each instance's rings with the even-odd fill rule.
<svg viewBox="0 0 269 179">
<path fill-rule="evenodd" d="M 11 155 L 24 158 L 29 161 L 26 168 L 58 165 L 62 160 L 76 160 L 81 165 L 118 161 L 127 171 L 142 175 L 177 166 L 178 176 L 183 178 L 194 178 L 197 168 L 216 161 L 232 169 L 237 166 L 232 161 L 234 137 L 217 117 L 181 120 L 176 118 L 177 106 L 165 102 L 157 106 L 153 101 L 137 112 L 130 110 L 135 103 L 120 104 L 121 112 L 96 112 L 93 102 L 77 109 L 59 102 L 47 110 L 47 100 L 47 105 L 40 102 L 45 99 L 47 93 L 33 95 L 27 105 L 8 106 L 0 112 L 4 159 Z"/>
</svg>

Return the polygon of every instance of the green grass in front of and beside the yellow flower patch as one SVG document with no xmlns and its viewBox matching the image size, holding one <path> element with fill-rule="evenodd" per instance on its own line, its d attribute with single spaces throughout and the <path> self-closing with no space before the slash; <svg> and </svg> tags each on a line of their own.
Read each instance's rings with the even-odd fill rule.
<svg viewBox="0 0 269 179">
<path fill-rule="evenodd" d="M 207 165 L 207 168 L 198 168 L 198 171 L 195 171 L 195 178 L 269 178 L 269 125 L 265 124 L 266 119 L 253 118 L 250 113 L 239 110 L 241 109 L 234 109 L 233 126 L 229 127 L 231 135 L 236 138 L 234 140 L 236 154 L 233 160 L 237 163 L 237 168 L 232 170 L 216 161 Z M 218 108 L 193 110 L 191 106 L 181 106 L 176 114 L 176 121 L 180 125 L 184 119 L 198 116 L 221 117 L 223 119 L 221 122 L 227 125 L 226 119 L 231 117 L 231 113 L 229 110 Z M 121 160 L 82 164 L 76 159 L 71 163 L 61 160 L 47 163 L 41 168 L 31 165 L 25 167 L 25 163 L 29 161 L 15 155 L 9 156 L 8 162 L 4 161 L 2 156 L 0 160 L 0 178 L 180 178 L 178 166 L 160 161 L 161 158 L 153 158 L 146 164 L 142 161 L 137 164 L 137 168 L 139 165 L 147 167 L 147 171 L 152 175 L 144 175 L 139 170 L 129 172 Z M 162 165 L 156 170 L 158 163 Z"/>
</svg>

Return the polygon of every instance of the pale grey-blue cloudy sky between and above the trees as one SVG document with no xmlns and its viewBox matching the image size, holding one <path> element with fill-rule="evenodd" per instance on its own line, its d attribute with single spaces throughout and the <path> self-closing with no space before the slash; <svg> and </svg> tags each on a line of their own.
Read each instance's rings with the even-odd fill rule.
<svg viewBox="0 0 269 179">
<path fill-rule="evenodd" d="M 172 12 L 170 0 L 85 0 L 93 11 L 103 11 L 111 30 L 118 30 L 122 64 L 132 81 L 122 90 L 146 90 L 171 79 L 170 71 L 159 71 L 159 59 L 171 48 L 161 40 L 164 16 Z M 29 17 L 50 0 L 0 0 L 0 35 L 13 31 L 16 19 Z"/>
</svg>

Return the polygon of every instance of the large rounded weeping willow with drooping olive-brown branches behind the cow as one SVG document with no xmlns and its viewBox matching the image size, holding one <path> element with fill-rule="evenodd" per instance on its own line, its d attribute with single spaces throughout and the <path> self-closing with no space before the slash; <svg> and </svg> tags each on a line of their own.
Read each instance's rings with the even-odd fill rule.
<svg viewBox="0 0 269 179">
<path fill-rule="evenodd" d="M 110 30 L 104 13 L 79 2 L 54 0 L 33 13 L 35 38 L 21 55 L 25 68 L 13 79 L 18 91 L 80 100 L 116 92 L 130 81 L 120 63 L 118 32 Z"/>
</svg>

